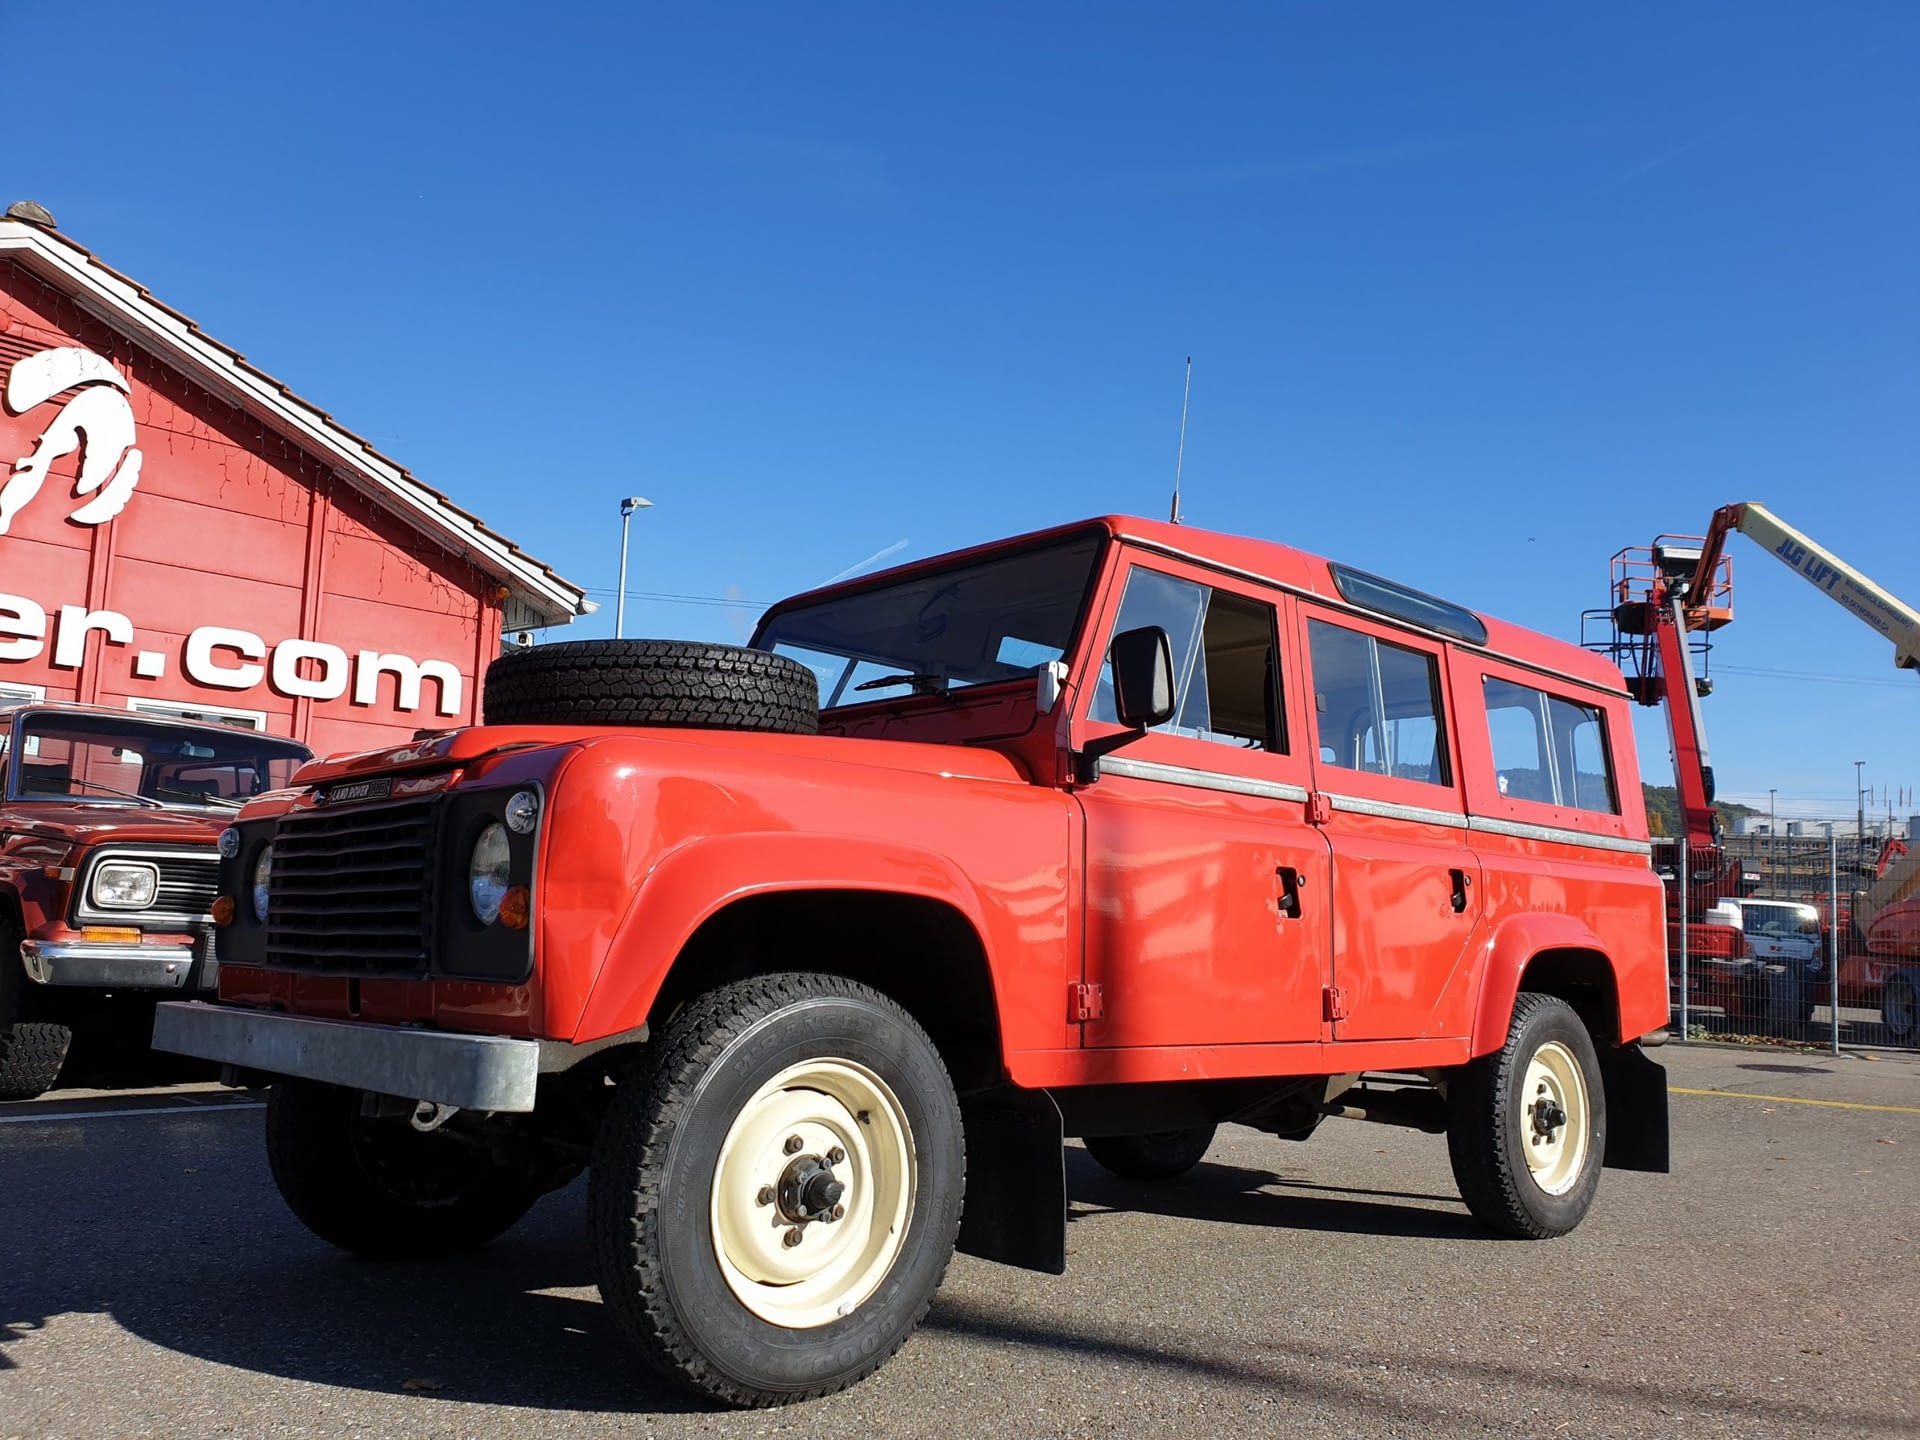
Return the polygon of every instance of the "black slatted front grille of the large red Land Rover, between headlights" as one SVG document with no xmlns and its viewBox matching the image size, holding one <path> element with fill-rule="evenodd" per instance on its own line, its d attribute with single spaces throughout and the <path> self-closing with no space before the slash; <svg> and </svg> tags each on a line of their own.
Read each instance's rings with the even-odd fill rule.
<svg viewBox="0 0 1920 1440">
<path fill-rule="evenodd" d="M 440 797 L 282 816 L 267 885 L 267 962 L 424 973 Z"/>
</svg>

